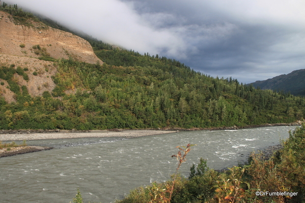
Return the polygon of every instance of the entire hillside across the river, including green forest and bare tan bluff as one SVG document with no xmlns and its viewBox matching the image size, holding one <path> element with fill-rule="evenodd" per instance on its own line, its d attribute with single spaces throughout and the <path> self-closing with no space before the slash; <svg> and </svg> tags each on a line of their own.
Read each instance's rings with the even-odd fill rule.
<svg viewBox="0 0 305 203">
<path fill-rule="evenodd" d="M 291 123 L 305 113 L 304 98 L 88 38 L 92 48 L 11 10 L 0 20 L 13 27 L 1 27 L 0 129 L 243 127 Z"/>
</svg>

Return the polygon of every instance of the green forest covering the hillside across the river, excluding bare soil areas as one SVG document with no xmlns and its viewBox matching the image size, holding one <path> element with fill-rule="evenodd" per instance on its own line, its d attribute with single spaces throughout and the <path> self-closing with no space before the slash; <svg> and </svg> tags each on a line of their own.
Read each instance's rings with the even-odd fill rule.
<svg viewBox="0 0 305 203">
<path fill-rule="evenodd" d="M 17 5 L 3 5 L 2 9 L 22 19 L 34 18 Z M 56 88 L 41 97 L 31 97 L 26 86 L 13 81 L 14 74 L 27 81 L 28 74 L 35 72 L 14 64 L 0 66 L 0 78 L 16 95 L 12 103 L 0 98 L 0 129 L 244 127 L 303 118 L 303 97 L 255 89 L 237 79 L 213 78 L 158 54 L 142 55 L 81 37 L 90 42 L 104 64 L 40 57 L 52 61 L 58 70 L 52 76 Z M 65 94 L 67 90 L 74 93 Z"/>
</svg>

